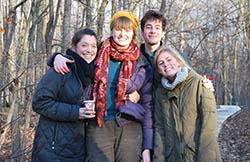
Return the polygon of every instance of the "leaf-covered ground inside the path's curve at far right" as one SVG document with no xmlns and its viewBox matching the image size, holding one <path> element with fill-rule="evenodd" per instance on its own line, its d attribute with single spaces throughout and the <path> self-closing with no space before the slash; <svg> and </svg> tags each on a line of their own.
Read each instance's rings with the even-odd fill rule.
<svg viewBox="0 0 250 162">
<path fill-rule="evenodd" d="M 250 161 L 250 108 L 228 117 L 218 135 L 223 161 Z"/>
</svg>

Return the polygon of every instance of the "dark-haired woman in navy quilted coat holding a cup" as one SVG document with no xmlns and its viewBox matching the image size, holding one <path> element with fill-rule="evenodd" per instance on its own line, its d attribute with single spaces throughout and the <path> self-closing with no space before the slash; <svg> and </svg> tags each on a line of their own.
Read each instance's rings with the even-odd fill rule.
<svg viewBox="0 0 250 162">
<path fill-rule="evenodd" d="M 33 110 L 40 114 L 32 150 L 32 162 L 82 162 L 85 159 L 85 123 L 95 117 L 83 101 L 92 98 L 93 60 L 97 37 L 90 29 L 79 30 L 66 51 L 74 60 L 69 73 L 50 68 L 38 84 Z"/>
</svg>

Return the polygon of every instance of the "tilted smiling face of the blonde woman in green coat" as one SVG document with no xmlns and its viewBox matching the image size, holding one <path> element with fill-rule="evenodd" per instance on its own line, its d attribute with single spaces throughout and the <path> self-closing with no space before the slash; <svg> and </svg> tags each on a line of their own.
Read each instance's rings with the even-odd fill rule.
<svg viewBox="0 0 250 162">
<path fill-rule="evenodd" d="M 174 81 L 180 63 L 169 53 L 162 52 L 156 62 L 158 72 L 170 81 Z"/>
</svg>

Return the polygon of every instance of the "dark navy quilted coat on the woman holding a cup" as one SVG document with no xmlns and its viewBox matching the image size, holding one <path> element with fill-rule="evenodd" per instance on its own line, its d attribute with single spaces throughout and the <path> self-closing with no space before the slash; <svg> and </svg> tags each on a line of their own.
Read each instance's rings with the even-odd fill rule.
<svg viewBox="0 0 250 162">
<path fill-rule="evenodd" d="M 32 106 L 40 119 L 32 162 L 84 161 L 85 124 L 78 117 L 85 93 L 76 70 L 69 68 L 65 75 L 50 68 L 36 89 Z"/>
</svg>

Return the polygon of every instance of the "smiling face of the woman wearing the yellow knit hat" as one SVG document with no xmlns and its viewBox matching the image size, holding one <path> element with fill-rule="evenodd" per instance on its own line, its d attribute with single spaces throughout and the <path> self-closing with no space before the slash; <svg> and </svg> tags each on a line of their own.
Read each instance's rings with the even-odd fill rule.
<svg viewBox="0 0 250 162">
<path fill-rule="evenodd" d="M 127 48 L 133 40 L 134 31 L 133 29 L 112 29 L 112 37 L 114 41 L 122 48 Z"/>
</svg>

